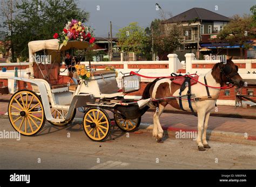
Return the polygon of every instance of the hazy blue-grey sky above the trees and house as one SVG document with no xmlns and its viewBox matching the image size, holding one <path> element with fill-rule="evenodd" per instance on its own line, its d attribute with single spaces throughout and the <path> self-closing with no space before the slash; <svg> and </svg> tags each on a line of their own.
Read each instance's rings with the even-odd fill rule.
<svg viewBox="0 0 256 187">
<path fill-rule="evenodd" d="M 95 29 L 96 37 L 107 37 L 112 21 L 113 37 L 118 30 L 129 23 L 137 21 L 146 28 L 155 18 L 160 18 L 156 3 L 165 12 L 173 16 L 191 8 L 205 8 L 231 17 L 249 14 L 255 0 L 77 0 L 79 8 L 90 13 L 87 22 Z M 218 10 L 215 10 L 215 8 Z"/>
</svg>

